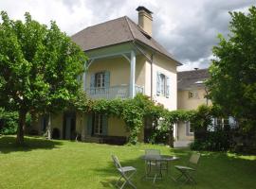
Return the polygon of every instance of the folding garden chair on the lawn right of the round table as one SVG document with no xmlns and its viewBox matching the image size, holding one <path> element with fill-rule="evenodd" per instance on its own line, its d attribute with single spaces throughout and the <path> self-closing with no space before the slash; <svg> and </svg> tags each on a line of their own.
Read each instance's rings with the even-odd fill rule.
<svg viewBox="0 0 256 189">
<path fill-rule="evenodd" d="M 176 180 L 180 180 L 181 178 L 185 177 L 186 180 L 184 183 L 188 181 L 196 183 L 196 181 L 192 178 L 192 172 L 196 171 L 199 158 L 200 158 L 199 153 L 193 153 L 189 160 L 188 166 L 175 165 L 174 167 L 181 172 L 180 176 L 177 177 Z"/>
</svg>

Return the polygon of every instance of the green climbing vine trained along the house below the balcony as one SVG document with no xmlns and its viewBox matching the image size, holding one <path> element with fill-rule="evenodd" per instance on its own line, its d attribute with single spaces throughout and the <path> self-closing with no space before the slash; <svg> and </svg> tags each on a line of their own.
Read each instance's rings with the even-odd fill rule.
<svg viewBox="0 0 256 189">
<path fill-rule="evenodd" d="M 158 125 L 158 120 L 163 120 L 162 129 L 173 136 L 174 123 L 181 120 L 188 120 L 191 112 L 173 111 L 169 112 L 161 104 L 156 104 L 148 96 L 137 94 L 135 98 L 121 99 L 98 99 L 91 100 L 80 97 L 72 103 L 75 109 L 82 112 L 97 112 L 107 116 L 117 116 L 121 118 L 129 131 L 129 144 L 137 144 L 137 135 L 143 127 L 144 120 L 150 118 L 154 125 Z M 171 140 L 172 142 L 172 140 Z"/>
</svg>

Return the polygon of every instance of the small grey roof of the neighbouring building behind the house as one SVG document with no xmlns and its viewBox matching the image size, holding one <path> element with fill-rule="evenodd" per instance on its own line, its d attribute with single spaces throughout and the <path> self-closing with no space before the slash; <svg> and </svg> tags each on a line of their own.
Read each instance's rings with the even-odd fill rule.
<svg viewBox="0 0 256 189">
<path fill-rule="evenodd" d="M 178 90 L 204 87 L 204 81 L 209 78 L 208 69 L 191 70 L 177 73 Z"/>
</svg>

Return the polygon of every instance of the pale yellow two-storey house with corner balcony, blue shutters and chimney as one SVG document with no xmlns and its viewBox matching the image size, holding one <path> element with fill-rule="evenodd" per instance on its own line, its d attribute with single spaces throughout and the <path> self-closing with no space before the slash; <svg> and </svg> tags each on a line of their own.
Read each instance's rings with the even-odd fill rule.
<svg viewBox="0 0 256 189">
<path fill-rule="evenodd" d="M 138 23 L 127 16 L 89 26 L 72 36 L 89 60 L 82 76 L 82 87 L 92 99 L 133 98 L 137 93 L 150 96 L 170 111 L 177 109 L 176 67 L 181 65 L 153 38 L 153 12 L 138 7 Z M 47 117 L 37 127 L 46 129 Z M 51 116 L 52 128 L 63 139 L 78 133 L 84 141 L 125 139 L 129 133 L 123 120 L 102 114 L 62 112 Z M 139 140 L 144 140 L 144 129 Z"/>
</svg>

